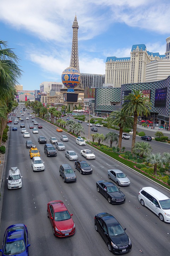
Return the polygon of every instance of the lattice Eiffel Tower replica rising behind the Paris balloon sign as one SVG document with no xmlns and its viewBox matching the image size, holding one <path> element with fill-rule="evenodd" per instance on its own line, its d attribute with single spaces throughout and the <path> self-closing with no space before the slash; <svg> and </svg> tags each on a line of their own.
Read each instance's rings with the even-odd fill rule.
<svg viewBox="0 0 170 256">
<path fill-rule="evenodd" d="M 70 58 L 70 66 L 77 69 L 80 72 L 79 69 L 79 52 L 78 52 L 78 21 L 77 16 L 75 15 L 74 21 L 73 21 L 73 41 L 72 41 L 72 53 Z M 78 86 L 79 88 L 84 88 L 82 81 L 80 80 L 80 84 Z"/>
</svg>

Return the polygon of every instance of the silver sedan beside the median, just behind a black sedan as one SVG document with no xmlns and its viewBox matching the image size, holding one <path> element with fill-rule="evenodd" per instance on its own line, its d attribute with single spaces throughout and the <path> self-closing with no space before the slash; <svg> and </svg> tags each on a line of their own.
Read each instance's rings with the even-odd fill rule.
<svg viewBox="0 0 170 256">
<path fill-rule="evenodd" d="M 107 171 L 108 178 L 112 179 L 113 181 L 116 182 L 118 186 L 129 186 L 130 185 L 130 180 L 124 172 L 116 169 L 108 170 Z"/>
</svg>

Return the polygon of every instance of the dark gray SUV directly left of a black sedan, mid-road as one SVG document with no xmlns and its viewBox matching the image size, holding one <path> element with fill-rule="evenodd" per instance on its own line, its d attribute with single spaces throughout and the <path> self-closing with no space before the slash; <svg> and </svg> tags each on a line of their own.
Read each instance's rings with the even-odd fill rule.
<svg viewBox="0 0 170 256">
<path fill-rule="evenodd" d="M 59 175 L 62 176 L 64 182 L 72 182 L 77 181 L 77 177 L 74 173 L 72 167 L 68 164 L 60 165 Z"/>
</svg>

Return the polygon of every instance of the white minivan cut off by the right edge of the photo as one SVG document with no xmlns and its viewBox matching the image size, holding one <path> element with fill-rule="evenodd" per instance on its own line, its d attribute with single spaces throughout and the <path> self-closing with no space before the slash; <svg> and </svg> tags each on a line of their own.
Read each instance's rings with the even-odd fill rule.
<svg viewBox="0 0 170 256">
<path fill-rule="evenodd" d="M 142 206 L 148 207 L 159 216 L 159 219 L 170 223 L 170 199 L 152 187 L 143 187 L 138 199 Z"/>
</svg>

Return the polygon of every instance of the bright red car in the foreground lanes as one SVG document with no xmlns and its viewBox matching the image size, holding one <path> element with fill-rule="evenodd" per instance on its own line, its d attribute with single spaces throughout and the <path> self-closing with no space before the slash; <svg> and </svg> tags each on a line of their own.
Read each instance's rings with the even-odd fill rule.
<svg viewBox="0 0 170 256">
<path fill-rule="evenodd" d="M 62 201 L 51 201 L 47 204 L 47 217 L 50 218 L 55 236 L 64 237 L 75 233 L 72 216 Z"/>
</svg>

